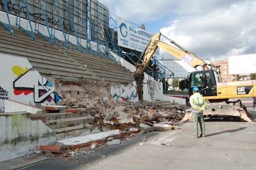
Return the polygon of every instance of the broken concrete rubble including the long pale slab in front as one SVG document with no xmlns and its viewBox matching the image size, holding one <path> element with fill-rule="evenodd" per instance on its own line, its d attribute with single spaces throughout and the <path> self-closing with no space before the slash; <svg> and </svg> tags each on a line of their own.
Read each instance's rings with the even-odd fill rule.
<svg viewBox="0 0 256 170">
<path fill-rule="evenodd" d="M 185 115 L 186 106 L 163 104 L 162 102 L 123 102 L 119 100 L 80 99 L 70 97 L 61 105 L 68 108 L 92 110 L 95 118 L 88 127 L 99 132 L 61 139 L 54 146 L 41 146 L 47 155 L 63 156 L 71 160 L 75 155 L 92 152 L 96 147 L 116 145 L 124 139 L 151 131 L 171 131 Z M 52 153 L 52 154 L 49 154 Z"/>
</svg>

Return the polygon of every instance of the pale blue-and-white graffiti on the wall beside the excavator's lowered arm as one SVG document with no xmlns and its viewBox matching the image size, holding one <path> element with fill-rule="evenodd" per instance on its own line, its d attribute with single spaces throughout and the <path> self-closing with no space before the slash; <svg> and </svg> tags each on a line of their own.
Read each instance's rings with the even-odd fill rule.
<svg viewBox="0 0 256 170">
<path fill-rule="evenodd" d="M 110 98 L 114 100 L 122 100 L 122 101 L 134 101 L 137 97 L 136 86 L 133 83 L 128 84 L 127 86 L 118 85 L 111 86 L 111 94 Z"/>
</svg>

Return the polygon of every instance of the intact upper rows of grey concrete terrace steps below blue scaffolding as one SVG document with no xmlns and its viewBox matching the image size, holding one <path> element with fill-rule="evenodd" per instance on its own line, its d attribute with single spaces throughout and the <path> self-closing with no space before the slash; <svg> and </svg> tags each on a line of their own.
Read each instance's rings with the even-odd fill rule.
<svg viewBox="0 0 256 170">
<path fill-rule="evenodd" d="M 54 45 L 35 34 L 34 41 L 18 28 L 14 35 L 0 26 L 0 52 L 26 57 L 41 75 L 58 79 L 98 79 L 113 83 L 131 83 L 133 73 L 120 63 L 94 56 L 88 51 L 81 53 L 70 46 L 65 49 L 57 40 Z"/>
</svg>

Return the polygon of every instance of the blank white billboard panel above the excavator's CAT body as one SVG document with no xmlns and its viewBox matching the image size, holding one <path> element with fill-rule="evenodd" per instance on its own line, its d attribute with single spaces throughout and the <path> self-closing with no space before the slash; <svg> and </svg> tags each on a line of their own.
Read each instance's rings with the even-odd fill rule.
<svg viewBox="0 0 256 170">
<path fill-rule="evenodd" d="M 256 54 L 228 57 L 229 75 L 256 73 Z"/>
</svg>

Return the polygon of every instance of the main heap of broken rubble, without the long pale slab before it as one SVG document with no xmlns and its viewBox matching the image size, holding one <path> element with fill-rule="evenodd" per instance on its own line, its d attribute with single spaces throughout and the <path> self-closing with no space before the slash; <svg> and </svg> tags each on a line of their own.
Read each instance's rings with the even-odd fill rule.
<svg viewBox="0 0 256 170">
<path fill-rule="evenodd" d="M 100 98 L 78 100 L 70 97 L 60 104 L 70 108 L 85 108 L 85 111 L 94 116 L 94 125 L 101 131 L 120 129 L 134 133 L 148 127 L 155 127 L 155 130 L 175 129 L 175 124 L 184 117 L 186 109 L 184 105 L 173 105 L 170 102 L 131 103 Z M 161 127 L 159 124 L 169 126 Z"/>
</svg>

